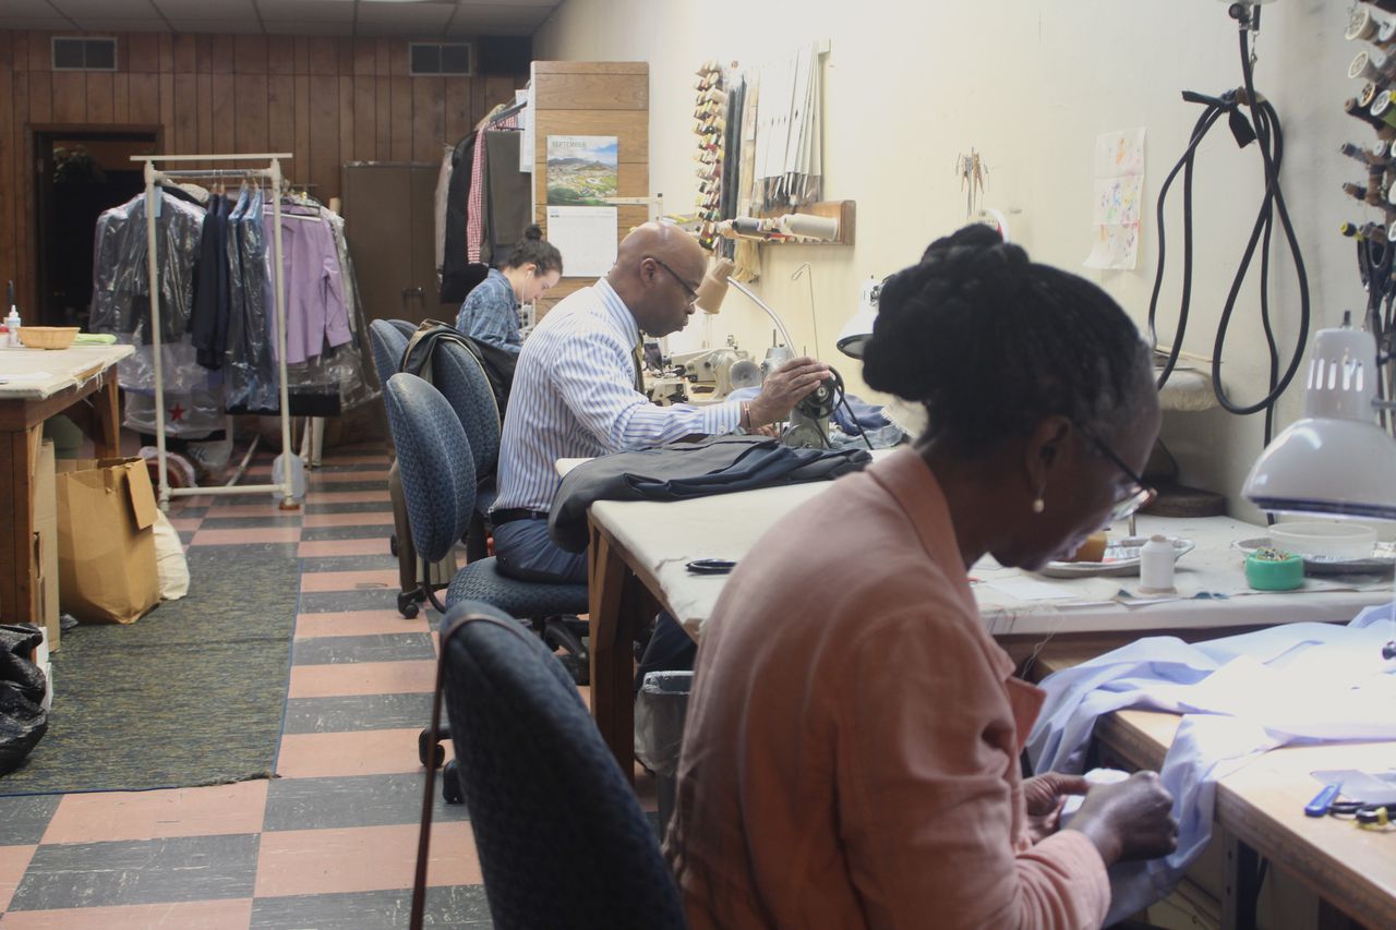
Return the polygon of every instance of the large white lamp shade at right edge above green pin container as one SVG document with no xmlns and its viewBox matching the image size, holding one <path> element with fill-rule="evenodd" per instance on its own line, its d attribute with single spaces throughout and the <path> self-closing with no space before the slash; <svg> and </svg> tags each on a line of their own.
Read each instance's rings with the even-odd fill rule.
<svg viewBox="0 0 1396 930">
<path fill-rule="evenodd" d="M 1305 418 L 1266 447 L 1241 493 L 1276 514 L 1396 519 L 1396 441 L 1375 423 Z"/>
</svg>

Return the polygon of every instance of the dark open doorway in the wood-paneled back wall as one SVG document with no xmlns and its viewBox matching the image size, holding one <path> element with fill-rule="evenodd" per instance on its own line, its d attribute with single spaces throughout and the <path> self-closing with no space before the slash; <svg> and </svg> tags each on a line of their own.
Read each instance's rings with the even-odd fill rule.
<svg viewBox="0 0 1396 930">
<path fill-rule="evenodd" d="M 131 155 L 155 155 L 159 137 L 156 126 L 34 128 L 36 323 L 87 327 L 96 219 L 145 190 Z"/>
</svg>

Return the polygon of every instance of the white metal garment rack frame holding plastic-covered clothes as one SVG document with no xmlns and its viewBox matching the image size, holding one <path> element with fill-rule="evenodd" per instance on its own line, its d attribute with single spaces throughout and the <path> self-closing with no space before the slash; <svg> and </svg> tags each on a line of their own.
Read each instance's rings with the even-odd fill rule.
<svg viewBox="0 0 1396 930">
<path fill-rule="evenodd" d="M 169 510 L 170 497 L 201 497 L 204 494 L 261 494 L 279 493 L 282 510 L 297 510 L 292 489 L 292 472 L 289 462 L 281 469 L 279 485 L 225 485 L 214 487 L 170 487 L 169 464 L 165 451 L 165 374 L 163 359 L 161 357 L 161 288 L 159 265 L 155 235 L 156 187 L 162 182 L 179 183 L 180 180 L 204 177 L 242 177 L 268 179 L 274 191 L 272 197 L 272 289 L 276 293 L 276 346 L 278 369 L 281 374 L 281 450 L 282 455 L 296 457 L 290 444 L 290 392 L 286 377 L 286 295 L 282 288 L 282 249 L 281 249 L 281 189 L 283 176 L 281 161 L 289 159 L 289 152 L 269 152 L 254 155 L 133 155 L 133 162 L 145 163 L 145 251 L 149 261 L 149 289 L 151 289 L 151 345 L 155 348 L 155 448 L 159 468 L 159 505 Z M 188 169 L 188 170 L 161 170 L 156 162 L 268 162 L 267 168 L 229 168 L 229 169 Z M 229 438 L 232 434 L 229 433 Z"/>
</svg>

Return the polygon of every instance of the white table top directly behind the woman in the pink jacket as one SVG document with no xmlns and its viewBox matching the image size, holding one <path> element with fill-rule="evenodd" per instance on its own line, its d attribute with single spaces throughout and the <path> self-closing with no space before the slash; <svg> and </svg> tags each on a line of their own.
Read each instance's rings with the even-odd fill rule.
<svg viewBox="0 0 1396 930">
<path fill-rule="evenodd" d="M 630 552 L 638 563 L 637 574 L 658 581 L 666 606 L 697 637 L 727 578 L 694 575 L 687 563 L 741 560 L 768 526 L 829 487 L 828 482 L 814 482 L 671 503 L 597 501 L 591 514 Z M 1138 577 L 1044 578 L 1000 568 L 986 559 L 970 574 L 979 580 L 974 592 L 988 631 L 995 637 L 1030 638 L 1330 621 L 1392 599 L 1392 580 L 1372 577 L 1308 578 L 1298 591 L 1252 592 L 1245 584 L 1244 556 L 1233 543 L 1263 536 L 1265 529 L 1227 517 L 1139 517 L 1138 532 L 1161 532 L 1196 543 L 1177 563 L 1175 598 L 1145 600 L 1138 595 Z M 1122 524 L 1111 532 L 1124 535 Z M 824 542 L 839 545 L 835 533 Z"/>
</svg>

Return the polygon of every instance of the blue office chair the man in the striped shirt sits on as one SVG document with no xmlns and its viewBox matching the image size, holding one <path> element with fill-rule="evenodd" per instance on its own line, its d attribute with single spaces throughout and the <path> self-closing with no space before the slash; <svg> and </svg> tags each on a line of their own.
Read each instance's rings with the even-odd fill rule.
<svg viewBox="0 0 1396 930">
<path fill-rule="evenodd" d="M 388 427 L 398 445 L 402 493 L 406 500 L 412 542 L 427 561 L 451 550 L 475 511 L 475 458 L 465 427 L 434 387 L 415 374 L 398 373 L 383 390 Z M 451 580 L 445 603 L 426 586 L 431 605 L 445 613 L 459 600 L 483 600 L 514 617 L 526 619 L 549 648 L 563 648 L 574 681 L 586 680 L 591 656 L 564 616 L 588 610 L 586 585 L 518 581 L 500 574 L 496 560 L 468 563 Z M 417 739 L 423 765 L 440 765 L 444 753 L 433 753 L 431 732 Z M 451 788 L 448 778 L 444 789 Z M 455 800 L 454 792 L 447 800 Z"/>
</svg>

